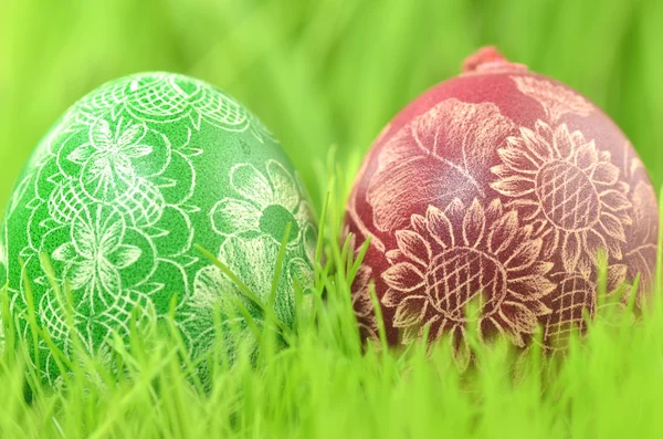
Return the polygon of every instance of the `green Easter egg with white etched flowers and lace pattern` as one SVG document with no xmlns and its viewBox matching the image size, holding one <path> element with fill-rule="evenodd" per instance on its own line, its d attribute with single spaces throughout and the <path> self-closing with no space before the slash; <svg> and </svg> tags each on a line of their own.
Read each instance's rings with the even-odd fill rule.
<svg viewBox="0 0 663 439">
<path fill-rule="evenodd" d="M 214 338 L 215 312 L 224 331 L 236 330 L 233 339 L 251 342 L 238 299 L 259 327 L 264 316 L 194 244 L 263 304 L 278 274 L 274 314 L 292 326 L 295 288 L 313 276 L 316 233 L 306 189 L 256 117 L 204 82 L 140 73 L 80 100 L 38 145 L 7 208 L 0 262 L 23 334 L 20 260 L 38 323 L 65 354 L 74 332 L 97 352 L 112 332 L 128 335 L 133 313 L 154 322 L 173 305 L 196 357 Z M 53 281 L 71 290 L 74 331 Z M 59 376 L 43 341 L 39 348 L 44 376 Z"/>
</svg>

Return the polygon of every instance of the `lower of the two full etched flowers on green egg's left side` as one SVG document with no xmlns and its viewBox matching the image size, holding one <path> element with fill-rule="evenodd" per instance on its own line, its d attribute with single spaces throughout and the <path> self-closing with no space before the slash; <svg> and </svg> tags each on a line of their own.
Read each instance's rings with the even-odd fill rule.
<svg viewBox="0 0 663 439">
<path fill-rule="evenodd" d="M 90 301 L 91 313 L 95 312 L 95 292 L 117 295 L 122 291 L 119 270 L 140 258 L 138 247 L 123 243 L 125 231 L 116 209 L 97 205 L 94 215 L 84 210 L 73 220 L 72 241 L 53 252 L 53 259 L 65 264 L 64 276 L 71 288 L 84 291 L 82 301 Z"/>
</svg>

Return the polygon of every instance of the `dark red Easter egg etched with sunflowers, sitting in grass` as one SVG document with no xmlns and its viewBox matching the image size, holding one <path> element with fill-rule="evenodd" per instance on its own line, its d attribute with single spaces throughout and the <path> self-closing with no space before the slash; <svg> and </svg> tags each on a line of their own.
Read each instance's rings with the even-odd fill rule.
<svg viewBox="0 0 663 439">
<path fill-rule="evenodd" d="M 352 303 L 375 335 L 370 281 L 387 337 L 448 335 L 466 366 L 469 327 L 562 346 L 597 314 L 599 254 L 610 303 L 638 303 L 652 280 L 659 210 L 624 134 L 570 87 L 484 49 L 465 71 L 417 97 L 365 158 L 346 232 L 370 247 Z M 467 306 L 472 302 L 475 306 Z"/>
</svg>

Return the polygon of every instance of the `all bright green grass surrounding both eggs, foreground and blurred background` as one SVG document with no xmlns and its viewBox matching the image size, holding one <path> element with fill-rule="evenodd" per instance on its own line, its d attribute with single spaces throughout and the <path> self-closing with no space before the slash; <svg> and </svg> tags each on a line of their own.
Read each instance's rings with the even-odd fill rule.
<svg viewBox="0 0 663 439">
<path fill-rule="evenodd" d="M 286 349 L 210 363 L 209 388 L 168 326 L 83 353 L 66 391 L 24 367 L 6 330 L 0 437 L 659 437 L 663 431 L 663 273 L 636 325 L 597 321 L 568 357 L 478 349 L 459 375 L 444 342 L 366 352 L 338 245 L 345 197 L 380 128 L 462 59 L 495 43 L 513 61 L 581 91 L 622 127 L 663 185 L 663 58 L 657 0 L 85 1 L 9 0 L 0 13 L 0 206 L 55 118 L 130 72 L 191 74 L 230 92 L 282 139 L 322 213 L 313 314 Z M 332 153 L 333 151 L 333 153 Z M 663 230 L 663 228 L 662 228 Z M 660 245 L 663 248 L 663 245 Z M 663 255 L 660 257 L 663 259 Z M 661 266 L 662 263 L 659 263 Z M 319 299 L 326 291 L 326 302 Z M 2 301 L 6 306 L 7 301 Z M 7 310 L 6 310 L 7 311 Z M 10 318 L 3 320 L 10 324 Z M 34 328 L 35 336 L 40 334 Z M 223 348 L 215 354 L 223 359 Z M 182 367 L 183 365 L 183 367 Z M 518 379 L 514 381 L 513 376 Z M 28 396 L 28 398 L 27 398 Z"/>
</svg>

